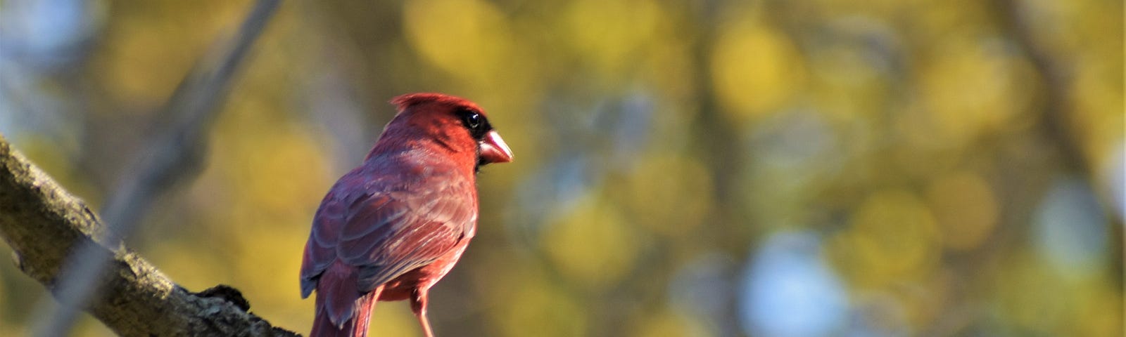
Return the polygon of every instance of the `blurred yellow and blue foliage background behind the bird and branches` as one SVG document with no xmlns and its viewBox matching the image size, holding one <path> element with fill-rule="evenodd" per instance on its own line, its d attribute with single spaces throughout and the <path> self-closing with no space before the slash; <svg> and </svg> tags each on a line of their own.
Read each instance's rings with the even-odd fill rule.
<svg viewBox="0 0 1126 337">
<path fill-rule="evenodd" d="M 863 2 L 863 4 L 859 4 Z M 252 1 L 0 0 L 0 133 L 96 208 Z M 1121 336 L 1123 2 L 288 1 L 129 246 L 306 334 L 310 221 L 394 113 L 516 162 L 439 336 Z M 0 245 L 3 256 L 10 255 Z M 43 286 L 0 263 L 0 335 Z M 420 336 L 404 302 L 374 336 Z M 110 336 L 83 316 L 74 336 Z"/>
</svg>

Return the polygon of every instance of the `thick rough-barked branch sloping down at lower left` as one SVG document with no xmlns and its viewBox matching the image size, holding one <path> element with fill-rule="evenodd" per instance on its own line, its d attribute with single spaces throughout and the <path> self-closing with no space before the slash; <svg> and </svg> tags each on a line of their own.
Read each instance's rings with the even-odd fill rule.
<svg viewBox="0 0 1126 337">
<path fill-rule="evenodd" d="M 47 289 L 70 253 L 96 244 L 113 256 L 98 277 L 98 295 L 86 307 L 122 336 L 298 336 L 249 313 L 238 290 L 218 285 L 191 293 L 120 244 L 97 237 L 105 228 L 71 195 L 0 136 L 0 237 L 18 267 Z"/>
</svg>

